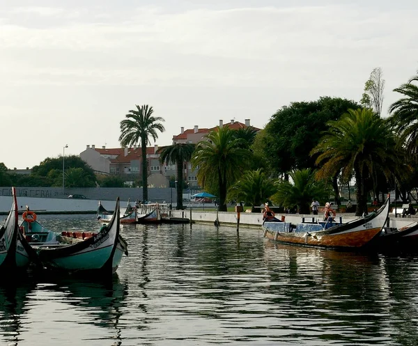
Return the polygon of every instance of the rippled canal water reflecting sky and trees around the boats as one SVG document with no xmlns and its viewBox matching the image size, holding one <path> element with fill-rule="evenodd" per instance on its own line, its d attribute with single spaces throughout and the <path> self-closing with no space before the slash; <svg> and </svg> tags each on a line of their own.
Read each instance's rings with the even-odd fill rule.
<svg viewBox="0 0 418 346">
<path fill-rule="evenodd" d="M 94 215 L 39 221 L 98 228 Z M 418 344 L 418 255 L 274 245 L 245 228 L 122 233 L 130 255 L 111 283 L 0 285 L 0 345 Z"/>
</svg>

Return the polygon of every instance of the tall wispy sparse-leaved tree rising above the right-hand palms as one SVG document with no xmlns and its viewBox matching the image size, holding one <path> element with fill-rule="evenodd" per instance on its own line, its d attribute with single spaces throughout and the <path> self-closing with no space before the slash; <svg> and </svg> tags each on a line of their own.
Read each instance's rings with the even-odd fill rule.
<svg viewBox="0 0 418 346">
<path fill-rule="evenodd" d="M 360 103 L 365 108 L 373 109 L 378 116 L 382 116 L 384 90 L 385 79 L 383 79 L 383 71 L 381 68 L 374 68 L 369 79 L 364 84 L 364 93 Z"/>
</svg>

